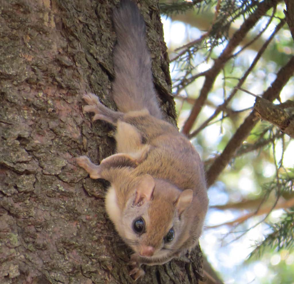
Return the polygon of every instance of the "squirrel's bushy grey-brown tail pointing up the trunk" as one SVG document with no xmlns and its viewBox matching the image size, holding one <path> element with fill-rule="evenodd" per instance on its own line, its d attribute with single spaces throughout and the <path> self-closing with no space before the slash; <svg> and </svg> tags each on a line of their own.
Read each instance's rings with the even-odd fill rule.
<svg viewBox="0 0 294 284">
<path fill-rule="evenodd" d="M 136 4 L 122 0 L 113 11 L 113 23 L 117 43 L 113 50 L 112 96 L 118 109 L 128 112 L 147 108 L 151 115 L 161 118 L 146 46 L 146 26 Z"/>
</svg>

